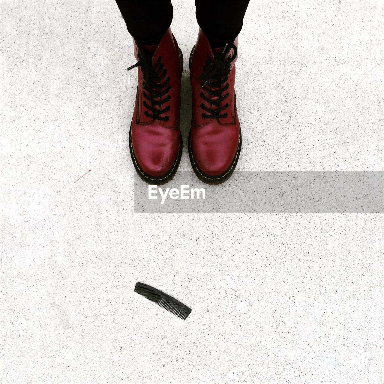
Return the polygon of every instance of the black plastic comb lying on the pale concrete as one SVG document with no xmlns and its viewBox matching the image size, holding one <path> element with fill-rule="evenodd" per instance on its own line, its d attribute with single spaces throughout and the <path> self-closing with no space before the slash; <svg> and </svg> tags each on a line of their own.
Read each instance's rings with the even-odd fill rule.
<svg viewBox="0 0 384 384">
<path fill-rule="evenodd" d="M 146 297 L 148 300 L 153 301 L 155 304 L 160 305 L 162 308 L 178 316 L 180 319 L 185 320 L 191 313 L 191 309 L 183 303 L 180 303 L 179 300 L 176 300 L 166 293 L 149 285 L 136 283 L 135 292 Z"/>
</svg>

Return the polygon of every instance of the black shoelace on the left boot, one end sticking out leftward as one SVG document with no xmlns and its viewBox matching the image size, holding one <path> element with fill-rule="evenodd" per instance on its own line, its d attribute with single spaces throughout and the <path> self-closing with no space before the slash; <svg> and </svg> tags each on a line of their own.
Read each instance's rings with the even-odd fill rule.
<svg viewBox="0 0 384 384">
<path fill-rule="evenodd" d="M 170 96 L 168 95 L 165 99 L 162 99 L 163 96 L 165 96 L 169 90 L 170 85 L 169 81 L 170 78 L 166 78 L 166 81 L 164 84 L 161 84 L 161 81 L 166 77 L 167 70 L 164 69 L 164 64 L 161 63 L 161 56 L 157 59 L 157 63 L 155 65 L 152 65 L 152 56 L 147 55 L 146 51 L 144 50 L 144 47 L 139 44 L 140 51 L 142 53 L 137 52 L 137 57 L 139 58 L 139 61 L 135 65 L 130 66 L 127 68 L 128 71 L 130 71 L 133 68 L 136 68 L 140 66 L 142 73 L 143 73 L 143 89 L 145 89 L 146 92 L 143 91 L 143 96 L 151 103 L 149 105 L 146 101 L 144 101 L 144 107 L 148 109 L 148 111 L 152 112 L 149 113 L 148 111 L 145 111 L 144 114 L 152 119 L 155 120 L 163 120 L 168 121 L 169 116 L 160 116 L 163 113 L 166 113 L 170 110 L 170 107 L 167 106 L 164 109 L 156 109 L 153 108 L 154 106 L 161 106 L 164 103 L 167 103 L 170 100 Z M 164 89 L 164 91 L 161 92 L 161 89 Z"/>
</svg>

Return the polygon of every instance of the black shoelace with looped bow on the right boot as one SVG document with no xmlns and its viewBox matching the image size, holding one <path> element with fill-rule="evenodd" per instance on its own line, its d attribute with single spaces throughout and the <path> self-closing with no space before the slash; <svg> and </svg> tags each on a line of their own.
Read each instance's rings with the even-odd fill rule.
<svg viewBox="0 0 384 384">
<path fill-rule="evenodd" d="M 233 49 L 233 55 L 228 58 L 227 61 L 224 61 L 225 55 L 230 49 Z M 207 55 L 207 60 L 205 60 L 204 65 L 204 72 L 197 78 L 197 80 L 205 80 L 204 83 L 201 84 L 204 91 L 207 92 L 209 95 L 217 97 L 218 99 L 212 100 L 207 98 L 204 92 L 200 93 L 200 97 L 205 102 L 217 107 L 215 109 L 212 109 L 208 108 L 207 106 L 205 106 L 205 104 L 201 103 L 200 107 L 204 109 L 204 111 L 209 113 L 202 113 L 202 118 L 220 119 L 226 118 L 228 116 L 227 112 L 223 114 L 220 113 L 227 109 L 229 107 L 229 104 L 225 103 L 221 107 L 220 105 L 225 99 L 229 97 L 229 93 L 225 93 L 224 96 L 223 93 L 229 88 L 229 84 L 227 83 L 228 75 L 231 70 L 231 63 L 233 60 L 235 60 L 236 55 L 237 48 L 234 44 L 226 44 L 222 52 L 214 55 L 213 61 L 211 61 L 209 55 Z M 207 88 L 207 86 L 209 87 L 209 89 Z"/>
</svg>

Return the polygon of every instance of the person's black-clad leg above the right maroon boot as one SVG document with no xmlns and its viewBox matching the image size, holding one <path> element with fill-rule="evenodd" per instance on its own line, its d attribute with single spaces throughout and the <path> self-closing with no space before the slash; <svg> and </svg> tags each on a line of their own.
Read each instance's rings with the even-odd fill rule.
<svg viewBox="0 0 384 384">
<path fill-rule="evenodd" d="M 233 42 L 243 26 L 249 1 L 196 0 L 196 19 L 212 48 Z"/>
</svg>

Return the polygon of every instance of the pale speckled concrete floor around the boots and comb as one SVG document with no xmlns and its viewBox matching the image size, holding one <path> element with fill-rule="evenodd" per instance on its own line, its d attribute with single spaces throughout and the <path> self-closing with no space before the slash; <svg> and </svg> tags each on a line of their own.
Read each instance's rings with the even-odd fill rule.
<svg viewBox="0 0 384 384">
<path fill-rule="evenodd" d="M 0 11 L 1 382 L 383 382 L 382 215 L 134 215 L 118 7 Z M 383 169 L 383 2 L 251 2 L 237 73 L 238 169 Z"/>
</svg>

